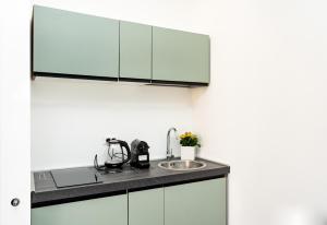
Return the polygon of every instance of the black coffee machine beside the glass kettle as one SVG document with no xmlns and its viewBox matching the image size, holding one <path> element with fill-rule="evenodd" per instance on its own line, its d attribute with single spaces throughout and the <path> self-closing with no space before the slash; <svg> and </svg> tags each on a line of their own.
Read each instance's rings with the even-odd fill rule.
<svg viewBox="0 0 327 225">
<path fill-rule="evenodd" d="M 149 154 L 148 144 L 145 141 L 138 139 L 131 143 L 131 162 L 130 165 L 136 168 L 148 168 L 149 167 Z"/>
</svg>

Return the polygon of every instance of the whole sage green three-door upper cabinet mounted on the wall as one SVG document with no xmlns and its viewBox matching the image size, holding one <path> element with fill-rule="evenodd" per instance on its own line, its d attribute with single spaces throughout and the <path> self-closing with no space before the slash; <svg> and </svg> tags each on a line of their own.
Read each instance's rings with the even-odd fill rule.
<svg viewBox="0 0 327 225">
<path fill-rule="evenodd" d="M 208 85 L 209 36 L 34 7 L 33 71 L 43 76 Z"/>
</svg>

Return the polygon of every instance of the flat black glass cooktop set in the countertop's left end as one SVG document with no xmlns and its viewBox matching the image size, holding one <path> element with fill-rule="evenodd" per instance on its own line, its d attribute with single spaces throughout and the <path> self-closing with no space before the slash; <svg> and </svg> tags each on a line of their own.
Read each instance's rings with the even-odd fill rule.
<svg viewBox="0 0 327 225">
<path fill-rule="evenodd" d="M 83 186 L 101 182 L 97 174 L 89 168 L 71 168 L 51 170 L 57 188 Z"/>
</svg>

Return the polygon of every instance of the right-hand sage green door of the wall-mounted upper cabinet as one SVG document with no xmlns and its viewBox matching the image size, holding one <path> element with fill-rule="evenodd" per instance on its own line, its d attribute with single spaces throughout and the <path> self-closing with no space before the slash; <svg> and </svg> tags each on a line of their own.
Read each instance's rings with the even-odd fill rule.
<svg viewBox="0 0 327 225">
<path fill-rule="evenodd" d="M 209 36 L 153 27 L 153 79 L 209 83 Z"/>
</svg>

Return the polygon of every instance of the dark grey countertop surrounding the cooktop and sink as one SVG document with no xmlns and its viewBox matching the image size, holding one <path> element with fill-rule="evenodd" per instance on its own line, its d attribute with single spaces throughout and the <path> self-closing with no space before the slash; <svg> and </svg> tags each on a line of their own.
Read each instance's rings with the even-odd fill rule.
<svg viewBox="0 0 327 225">
<path fill-rule="evenodd" d="M 32 183 L 35 190 L 31 193 L 32 208 L 226 177 L 230 171 L 228 165 L 202 158 L 197 158 L 197 161 L 206 163 L 207 166 L 197 170 L 177 171 L 158 167 L 158 163 L 162 161 L 152 161 L 148 169 L 131 168 L 128 165 L 122 173 L 106 175 L 100 175 L 99 171 L 89 166 L 85 168 L 98 173 L 101 182 L 68 188 L 57 188 L 50 170 L 35 171 L 33 174 L 34 183 Z"/>
</svg>

